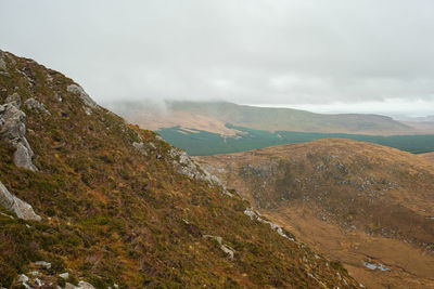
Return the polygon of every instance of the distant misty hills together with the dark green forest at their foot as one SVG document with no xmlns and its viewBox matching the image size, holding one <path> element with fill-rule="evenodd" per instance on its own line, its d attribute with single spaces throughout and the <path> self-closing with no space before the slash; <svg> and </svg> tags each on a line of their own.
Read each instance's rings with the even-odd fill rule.
<svg viewBox="0 0 434 289">
<path fill-rule="evenodd" d="M 411 153 L 434 150 L 434 126 L 410 126 L 379 115 L 320 115 L 226 102 L 144 103 L 111 107 L 132 123 L 158 132 L 193 156 L 245 152 L 324 137 L 366 141 Z M 427 123 L 427 124 L 426 124 Z"/>
</svg>

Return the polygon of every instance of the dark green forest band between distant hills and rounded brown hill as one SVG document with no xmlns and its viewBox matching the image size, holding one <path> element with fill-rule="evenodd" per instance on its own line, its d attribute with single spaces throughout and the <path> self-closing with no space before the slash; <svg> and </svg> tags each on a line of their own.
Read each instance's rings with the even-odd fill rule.
<svg viewBox="0 0 434 289">
<path fill-rule="evenodd" d="M 370 142 L 395 147 L 413 154 L 434 152 L 434 134 L 380 136 L 294 131 L 270 132 L 235 127 L 230 123 L 227 123 L 226 127 L 237 129 L 241 133 L 238 133 L 237 136 L 224 137 L 218 133 L 193 129 L 186 131 L 180 127 L 161 129 L 157 132 L 165 141 L 176 147 L 184 149 L 191 156 L 209 156 L 215 154 L 245 152 L 267 146 L 304 143 L 329 137 Z"/>
</svg>

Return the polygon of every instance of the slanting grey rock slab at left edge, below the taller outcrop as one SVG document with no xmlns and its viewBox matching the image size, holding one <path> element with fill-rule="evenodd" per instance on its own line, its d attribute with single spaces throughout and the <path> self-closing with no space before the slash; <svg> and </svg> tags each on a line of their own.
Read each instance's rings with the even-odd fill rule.
<svg viewBox="0 0 434 289">
<path fill-rule="evenodd" d="M 12 195 L 8 188 L 0 182 L 0 205 L 7 210 L 14 212 L 16 216 L 24 220 L 40 221 L 30 205 Z"/>
</svg>

